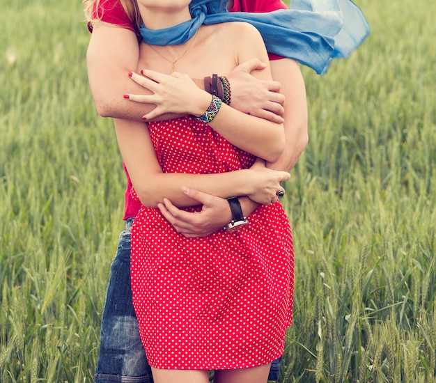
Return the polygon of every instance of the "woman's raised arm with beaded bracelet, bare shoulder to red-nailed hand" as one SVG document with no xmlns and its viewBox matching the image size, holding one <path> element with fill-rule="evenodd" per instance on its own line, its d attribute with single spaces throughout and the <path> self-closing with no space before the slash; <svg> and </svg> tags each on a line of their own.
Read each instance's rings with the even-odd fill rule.
<svg viewBox="0 0 436 383">
<path fill-rule="evenodd" d="M 211 33 L 211 29 L 207 31 L 207 33 Z M 213 40 L 219 40 L 225 47 L 228 47 L 221 49 L 222 64 L 218 68 L 230 69 L 234 63 L 238 65 L 241 61 L 247 61 L 253 57 L 260 58 L 260 61 L 267 61 L 265 45 L 254 26 L 233 22 L 220 24 L 213 29 L 213 32 L 216 33 L 216 38 Z M 240 36 L 240 42 L 232 45 L 231 40 L 235 35 Z M 220 64 L 218 63 L 214 67 L 209 61 L 208 65 L 210 68 L 206 68 L 207 71 L 213 70 Z M 185 60 L 185 69 L 188 68 L 189 63 Z M 178 114 L 182 111 L 194 116 L 201 116 L 208 109 L 212 96 L 195 86 L 189 77 L 195 72 L 189 73 L 189 75 L 178 72 L 164 75 L 153 70 L 143 69 L 141 73 L 143 76 L 133 73 L 132 79 L 150 89 L 153 94 L 146 96 L 129 95 L 129 99 L 157 105 L 150 114 L 145 116 L 146 120 L 159 117 L 160 114 L 169 112 Z M 253 75 L 261 80 L 272 79 L 269 65 L 262 70 L 256 70 Z M 283 125 L 251 116 L 248 110 L 247 113 L 242 113 L 223 103 L 209 125 L 233 145 L 269 162 L 276 161 L 284 148 Z"/>
</svg>

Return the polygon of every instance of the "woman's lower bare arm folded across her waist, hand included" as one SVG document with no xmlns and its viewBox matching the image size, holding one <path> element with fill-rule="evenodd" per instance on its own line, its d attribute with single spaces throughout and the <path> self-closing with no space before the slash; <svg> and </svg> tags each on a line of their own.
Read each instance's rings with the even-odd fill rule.
<svg viewBox="0 0 436 383">
<path fill-rule="evenodd" d="M 289 173 L 267 169 L 256 162 L 250 169 L 219 174 L 162 173 L 148 129 L 143 123 L 115 120 L 118 145 L 132 185 L 143 205 L 157 207 L 164 197 L 186 207 L 198 202 L 182 193 L 182 187 L 200 190 L 221 198 L 247 195 L 268 204 L 276 198 L 280 182 Z"/>
</svg>

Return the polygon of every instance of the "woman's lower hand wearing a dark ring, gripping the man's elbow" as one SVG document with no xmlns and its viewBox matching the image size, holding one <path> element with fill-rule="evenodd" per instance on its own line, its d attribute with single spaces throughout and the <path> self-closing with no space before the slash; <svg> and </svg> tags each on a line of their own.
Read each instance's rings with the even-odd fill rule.
<svg viewBox="0 0 436 383">
<path fill-rule="evenodd" d="M 289 180 L 287 171 L 274 171 L 265 167 L 263 159 L 257 159 L 249 171 L 253 172 L 253 192 L 247 196 L 262 205 L 270 205 L 277 201 L 277 192 L 283 190 L 281 182 Z"/>
</svg>

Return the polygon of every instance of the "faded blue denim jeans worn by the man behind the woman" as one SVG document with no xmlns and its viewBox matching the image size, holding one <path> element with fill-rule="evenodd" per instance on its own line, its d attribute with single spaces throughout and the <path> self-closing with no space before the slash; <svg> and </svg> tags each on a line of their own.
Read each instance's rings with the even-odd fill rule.
<svg viewBox="0 0 436 383">
<path fill-rule="evenodd" d="M 100 356 L 95 370 L 96 383 L 153 383 L 146 359 L 130 287 L 130 230 L 127 219 L 120 234 L 111 266 L 100 335 Z M 268 380 L 278 380 L 280 359 L 272 362 Z"/>
</svg>

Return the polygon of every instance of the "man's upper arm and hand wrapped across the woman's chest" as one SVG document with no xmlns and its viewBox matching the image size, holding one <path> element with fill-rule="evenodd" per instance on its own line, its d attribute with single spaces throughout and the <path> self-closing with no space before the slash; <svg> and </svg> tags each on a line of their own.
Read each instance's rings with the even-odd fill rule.
<svg viewBox="0 0 436 383">
<path fill-rule="evenodd" d="M 133 31 L 104 22 L 95 23 L 86 61 L 91 92 L 100 116 L 141 121 L 142 116 L 154 109 L 153 104 L 129 102 L 123 97 L 126 93 L 150 94 L 147 88 L 134 84 L 127 76 L 137 69 L 138 59 L 139 42 Z M 264 63 L 253 59 L 238 65 L 228 74 L 232 88 L 231 105 L 238 110 L 250 111 L 252 116 L 282 123 L 284 98 L 277 93 L 280 84 L 259 81 L 251 76 L 252 71 L 264 67 Z M 203 87 L 203 79 L 196 79 L 195 83 Z M 174 114 L 162 115 L 159 120 L 175 117 Z"/>
</svg>

